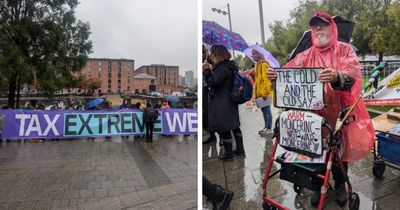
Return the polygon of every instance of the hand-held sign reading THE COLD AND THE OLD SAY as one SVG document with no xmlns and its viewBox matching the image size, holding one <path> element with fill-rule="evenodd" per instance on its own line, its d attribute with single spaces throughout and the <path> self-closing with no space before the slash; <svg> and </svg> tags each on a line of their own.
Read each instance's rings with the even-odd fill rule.
<svg viewBox="0 0 400 210">
<path fill-rule="evenodd" d="M 277 68 L 275 106 L 319 110 L 324 107 L 324 84 L 318 80 L 322 68 Z"/>
</svg>

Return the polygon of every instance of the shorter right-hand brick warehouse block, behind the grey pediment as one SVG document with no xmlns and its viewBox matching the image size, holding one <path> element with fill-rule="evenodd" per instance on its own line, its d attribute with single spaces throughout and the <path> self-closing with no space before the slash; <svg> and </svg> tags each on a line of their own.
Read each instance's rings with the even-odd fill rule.
<svg viewBox="0 0 400 210">
<path fill-rule="evenodd" d="M 163 64 L 141 66 L 135 70 L 135 75 L 139 74 L 142 76 L 145 76 L 143 74 L 147 74 L 155 77 L 156 81 L 154 81 L 154 84 L 152 84 L 155 85 L 155 87 L 150 87 L 157 92 L 170 94 L 172 92 L 182 91 L 182 87 L 179 86 L 178 66 L 166 66 Z M 135 90 L 136 89 L 137 88 L 135 88 Z"/>
</svg>

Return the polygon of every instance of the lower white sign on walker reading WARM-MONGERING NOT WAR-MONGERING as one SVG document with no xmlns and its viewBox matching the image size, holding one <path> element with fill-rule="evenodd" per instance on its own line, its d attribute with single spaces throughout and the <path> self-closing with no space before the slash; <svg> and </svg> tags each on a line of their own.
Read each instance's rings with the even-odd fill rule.
<svg viewBox="0 0 400 210">
<path fill-rule="evenodd" d="M 317 114 L 290 110 L 279 117 L 279 145 L 311 156 L 322 155 L 323 118 Z"/>
</svg>

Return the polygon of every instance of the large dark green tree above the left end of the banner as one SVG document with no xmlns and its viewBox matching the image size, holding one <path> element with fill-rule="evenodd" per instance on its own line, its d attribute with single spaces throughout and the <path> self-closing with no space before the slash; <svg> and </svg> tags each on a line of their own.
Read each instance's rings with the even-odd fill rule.
<svg viewBox="0 0 400 210">
<path fill-rule="evenodd" d="M 48 94 L 72 84 L 87 61 L 90 27 L 75 18 L 78 0 L 0 1 L 0 74 L 8 104 L 23 84 Z M 18 98 L 17 98 L 18 100 Z"/>
</svg>

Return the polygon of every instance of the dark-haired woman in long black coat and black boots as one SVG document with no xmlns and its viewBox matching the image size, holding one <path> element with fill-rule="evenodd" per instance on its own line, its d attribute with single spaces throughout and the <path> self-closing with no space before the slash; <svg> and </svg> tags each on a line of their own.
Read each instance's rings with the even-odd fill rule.
<svg viewBox="0 0 400 210">
<path fill-rule="evenodd" d="M 240 130 L 239 107 L 229 97 L 228 91 L 233 88 L 234 71 L 239 71 L 235 61 L 230 60 L 231 54 L 223 45 L 214 45 L 210 49 L 213 63 L 203 64 L 203 76 L 210 86 L 208 99 L 208 120 L 211 132 L 218 132 L 224 145 L 224 154 L 219 158 L 232 161 L 233 154 L 245 156 L 243 135 Z M 236 150 L 232 150 L 233 138 L 236 140 Z"/>
</svg>

